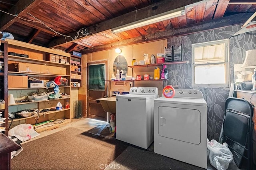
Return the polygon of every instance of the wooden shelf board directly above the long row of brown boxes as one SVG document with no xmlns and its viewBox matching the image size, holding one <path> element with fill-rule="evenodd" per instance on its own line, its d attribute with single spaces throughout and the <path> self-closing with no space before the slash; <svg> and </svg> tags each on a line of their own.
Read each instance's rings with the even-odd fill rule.
<svg viewBox="0 0 256 170">
<path fill-rule="evenodd" d="M 8 60 L 10 61 L 19 61 L 19 62 L 26 62 L 26 63 L 34 63 L 34 64 L 38 64 L 38 63 L 43 63 L 45 65 L 52 65 L 52 66 L 69 66 L 69 64 L 63 64 L 63 63 L 54 63 L 51 61 L 45 61 L 45 60 L 40 60 L 40 59 L 31 59 L 31 58 L 26 58 L 26 57 L 18 57 L 15 55 L 8 55 Z"/>
</svg>

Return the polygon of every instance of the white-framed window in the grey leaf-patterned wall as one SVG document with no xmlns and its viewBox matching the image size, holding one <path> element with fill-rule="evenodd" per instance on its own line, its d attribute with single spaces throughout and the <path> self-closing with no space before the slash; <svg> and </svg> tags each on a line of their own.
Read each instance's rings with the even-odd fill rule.
<svg viewBox="0 0 256 170">
<path fill-rule="evenodd" d="M 192 86 L 229 86 L 228 40 L 192 44 Z"/>
</svg>

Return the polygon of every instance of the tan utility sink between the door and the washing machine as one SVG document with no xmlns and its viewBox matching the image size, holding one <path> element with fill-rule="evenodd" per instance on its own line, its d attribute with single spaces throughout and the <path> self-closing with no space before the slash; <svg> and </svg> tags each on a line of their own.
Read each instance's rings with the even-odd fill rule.
<svg viewBox="0 0 256 170">
<path fill-rule="evenodd" d="M 105 112 L 116 113 L 116 97 L 100 98 L 96 102 L 100 102 Z"/>
</svg>

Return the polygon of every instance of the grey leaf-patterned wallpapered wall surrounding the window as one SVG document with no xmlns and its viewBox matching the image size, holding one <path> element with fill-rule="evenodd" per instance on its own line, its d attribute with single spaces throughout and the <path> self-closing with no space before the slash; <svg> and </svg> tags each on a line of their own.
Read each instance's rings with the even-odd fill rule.
<svg viewBox="0 0 256 170">
<path fill-rule="evenodd" d="M 182 44 L 183 60 L 189 60 L 187 64 L 168 65 L 168 85 L 177 86 L 179 89 L 192 88 L 192 61 L 191 47 L 193 43 L 209 42 L 229 38 L 230 83 L 234 83 L 234 64 L 242 64 L 245 59 L 245 51 L 256 49 L 256 35 L 234 33 L 241 29 L 241 25 L 220 28 L 187 36 L 170 38 L 167 40 L 168 48 Z M 195 89 L 195 88 L 194 88 Z M 207 102 L 207 138 L 219 140 L 222 119 L 225 110 L 225 101 L 228 98 L 227 88 L 198 88 Z"/>
</svg>

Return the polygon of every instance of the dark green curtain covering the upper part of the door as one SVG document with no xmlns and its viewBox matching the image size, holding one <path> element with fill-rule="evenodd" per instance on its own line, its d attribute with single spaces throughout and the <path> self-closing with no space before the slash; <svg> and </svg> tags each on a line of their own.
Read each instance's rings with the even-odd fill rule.
<svg viewBox="0 0 256 170">
<path fill-rule="evenodd" d="M 105 64 L 89 65 L 89 90 L 105 90 Z"/>
</svg>

